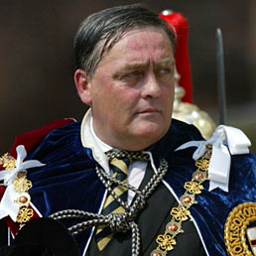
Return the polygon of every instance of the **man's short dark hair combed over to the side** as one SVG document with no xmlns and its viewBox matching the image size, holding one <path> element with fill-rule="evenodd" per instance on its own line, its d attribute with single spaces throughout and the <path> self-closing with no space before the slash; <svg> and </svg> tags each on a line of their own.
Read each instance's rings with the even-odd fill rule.
<svg viewBox="0 0 256 256">
<path fill-rule="evenodd" d="M 117 6 L 88 16 L 74 38 L 75 69 L 81 68 L 92 76 L 103 55 L 124 33 L 145 27 L 162 28 L 174 47 L 176 36 L 173 29 L 144 5 Z"/>
</svg>

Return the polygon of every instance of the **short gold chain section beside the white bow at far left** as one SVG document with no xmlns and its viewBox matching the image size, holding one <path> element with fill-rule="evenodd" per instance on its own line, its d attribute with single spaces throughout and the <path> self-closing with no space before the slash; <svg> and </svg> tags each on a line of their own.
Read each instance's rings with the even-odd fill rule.
<svg viewBox="0 0 256 256">
<path fill-rule="evenodd" d="M 13 170 L 16 168 L 16 160 L 6 153 L 0 158 L 0 164 L 5 170 Z M 20 228 L 29 221 L 33 215 L 33 209 L 29 208 L 31 197 L 29 190 L 32 188 L 32 183 L 26 178 L 26 172 L 19 172 L 13 182 L 14 190 L 19 194 L 15 202 L 19 204 L 19 212 L 16 222 L 19 223 Z"/>
</svg>

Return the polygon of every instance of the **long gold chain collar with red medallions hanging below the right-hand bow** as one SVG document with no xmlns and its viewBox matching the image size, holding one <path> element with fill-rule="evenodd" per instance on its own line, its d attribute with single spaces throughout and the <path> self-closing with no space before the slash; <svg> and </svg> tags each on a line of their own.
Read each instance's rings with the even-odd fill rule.
<svg viewBox="0 0 256 256">
<path fill-rule="evenodd" d="M 179 206 L 171 209 L 171 221 L 166 226 L 164 234 L 158 235 L 156 242 L 158 247 L 152 251 L 151 256 L 165 256 L 174 250 L 176 236 L 183 233 L 182 223 L 189 219 L 190 207 L 196 203 L 195 195 L 203 190 L 202 183 L 208 178 L 209 159 L 211 157 L 211 145 L 207 145 L 203 156 L 195 161 L 196 171 L 192 174 L 192 181 L 184 185 L 186 192 L 181 196 Z"/>
</svg>

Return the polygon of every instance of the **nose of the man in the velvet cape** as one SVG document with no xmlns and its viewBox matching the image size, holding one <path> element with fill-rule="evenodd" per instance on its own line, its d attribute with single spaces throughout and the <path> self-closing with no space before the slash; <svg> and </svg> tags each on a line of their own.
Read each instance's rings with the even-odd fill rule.
<svg viewBox="0 0 256 256">
<path fill-rule="evenodd" d="M 143 89 L 142 97 L 157 98 L 161 95 L 160 83 L 154 73 L 147 75 Z"/>
</svg>

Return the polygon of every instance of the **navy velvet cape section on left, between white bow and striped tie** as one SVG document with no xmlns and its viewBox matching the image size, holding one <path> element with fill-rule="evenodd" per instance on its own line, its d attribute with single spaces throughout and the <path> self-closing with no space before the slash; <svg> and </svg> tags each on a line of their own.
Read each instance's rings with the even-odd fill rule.
<svg viewBox="0 0 256 256">
<path fill-rule="evenodd" d="M 47 164 L 28 172 L 32 202 L 43 216 L 62 209 L 97 212 L 104 187 L 97 179 L 95 162 L 80 143 L 80 124 L 72 123 L 51 132 L 27 159 Z M 70 226 L 76 221 L 66 221 Z M 76 236 L 81 251 L 90 230 Z"/>
</svg>

